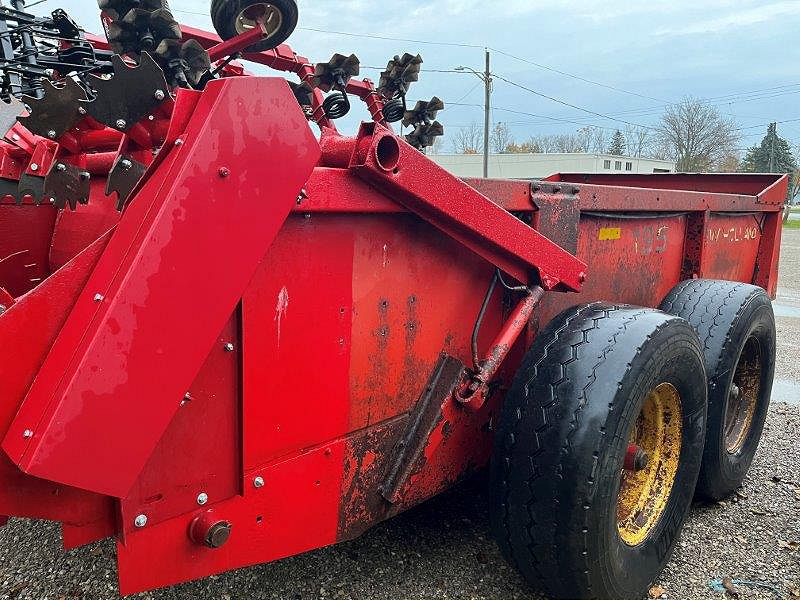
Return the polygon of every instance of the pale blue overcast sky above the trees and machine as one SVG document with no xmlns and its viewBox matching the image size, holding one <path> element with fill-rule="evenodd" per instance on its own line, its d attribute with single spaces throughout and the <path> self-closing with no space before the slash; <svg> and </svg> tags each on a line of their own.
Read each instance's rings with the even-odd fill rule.
<svg viewBox="0 0 800 600">
<path fill-rule="evenodd" d="M 180 21 L 204 28 L 211 28 L 209 4 L 170 1 Z M 488 46 L 497 75 L 594 113 L 651 125 L 665 103 L 691 95 L 711 99 L 745 128 L 743 147 L 760 141 L 773 120 L 798 119 L 780 124 L 779 132 L 800 141 L 800 0 L 300 0 L 299 5 L 300 28 L 289 43 L 315 62 L 353 52 L 365 67 L 383 67 L 394 54 L 412 52 L 422 54 L 424 68 L 433 71 L 459 65 L 482 70 Z M 87 30 L 100 30 L 94 0 L 47 0 L 33 10 L 41 14 L 58 6 Z M 418 41 L 359 37 L 364 34 Z M 362 69 L 374 79 L 378 73 Z M 449 103 L 440 119 L 448 133 L 482 122 L 483 87 L 474 75 L 423 73 L 410 99 L 434 94 Z M 500 80 L 493 98 L 492 120 L 508 123 L 518 141 L 572 132 L 579 123 L 625 127 Z M 365 115 L 359 107 L 340 129 L 354 130 L 356 117 Z"/>
</svg>

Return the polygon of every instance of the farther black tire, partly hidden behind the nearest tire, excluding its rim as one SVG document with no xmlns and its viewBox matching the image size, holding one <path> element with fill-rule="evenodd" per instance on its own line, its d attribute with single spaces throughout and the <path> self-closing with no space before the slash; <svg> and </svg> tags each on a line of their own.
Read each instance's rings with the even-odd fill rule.
<svg viewBox="0 0 800 600">
<path fill-rule="evenodd" d="M 722 500 L 744 481 L 753 462 L 772 395 L 775 376 L 775 315 L 762 288 L 731 281 L 696 279 L 678 284 L 662 310 L 689 321 L 704 344 L 708 372 L 708 434 L 698 495 Z M 725 415 L 742 350 L 754 338 L 762 358 L 758 401 L 741 448 L 729 453 Z"/>
</svg>

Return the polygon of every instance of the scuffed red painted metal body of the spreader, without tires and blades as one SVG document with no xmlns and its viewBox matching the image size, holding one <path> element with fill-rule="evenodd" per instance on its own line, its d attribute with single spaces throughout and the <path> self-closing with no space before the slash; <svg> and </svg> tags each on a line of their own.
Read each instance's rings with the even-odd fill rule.
<svg viewBox="0 0 800 600">
<path fill-rule="evenodd" d="M 309 76 L 288 46 L 248 57 Z M 233 74 L 159 111 L 121 215 L 104 170 L 137 142 L 107 129 L 58 149 L 97 175 L 84 210 L 0 201 L 0 514 L 60 521 L 67 548 L 113 536 L 123 593 L 351 539 L 485 466 L 569 305 L 693 277 L 775 293 L 785 177 L 459 181 L 380 124 L 340 136 L 316 94 L 318 141 L 283 79 Z M 8 180 L 52 159 L 14 131 Z M 498 267 L 531 294 L 494 295 L 474 369 Z"/>
</svg>

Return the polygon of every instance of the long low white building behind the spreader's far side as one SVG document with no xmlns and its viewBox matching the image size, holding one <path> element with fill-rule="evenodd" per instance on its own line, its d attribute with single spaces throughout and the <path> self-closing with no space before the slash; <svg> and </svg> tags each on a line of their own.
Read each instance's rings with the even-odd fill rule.
<svg viewBox="0 0 800 600">
<path fill-rule="evenodd" d="M 429 154 L 456 177 L 482 177 L 482 154 Z M 612 154 L 491 154 L 489 177 L 538 179 L 554 173 L 674 173 L 675 163 Z"/>
</svg>

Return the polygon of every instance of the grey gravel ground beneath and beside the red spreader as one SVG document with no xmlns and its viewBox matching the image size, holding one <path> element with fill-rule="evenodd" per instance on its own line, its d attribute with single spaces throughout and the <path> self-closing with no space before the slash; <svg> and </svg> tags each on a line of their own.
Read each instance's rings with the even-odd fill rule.
<svg viewBox="0 0 800 600">
<path fill-rule="evenodd" d="M 800 231 L 785 232 L 778 303 L 777 380 L 755 463 L 740 493 L 695 505 L 678 548 L 651 597 L 724 598 L 709 588 L 732 578 L 776 586 L 800 597 Z M 796 282 L 796 283 L 795 283 Z M 148 600 L 276 598 L 533 598 L 500 557 L 488 528 L 485 481 L 476 479 L 374 528 L 362 538 L 278 563 L 144 594 Z M 114 547 L 61 552 L 58 527 L 12 520 L 0 529 L 0 598 L 116 598 Z M 737 586 L 741 598 L 780 597 Z"/>
</svg>

